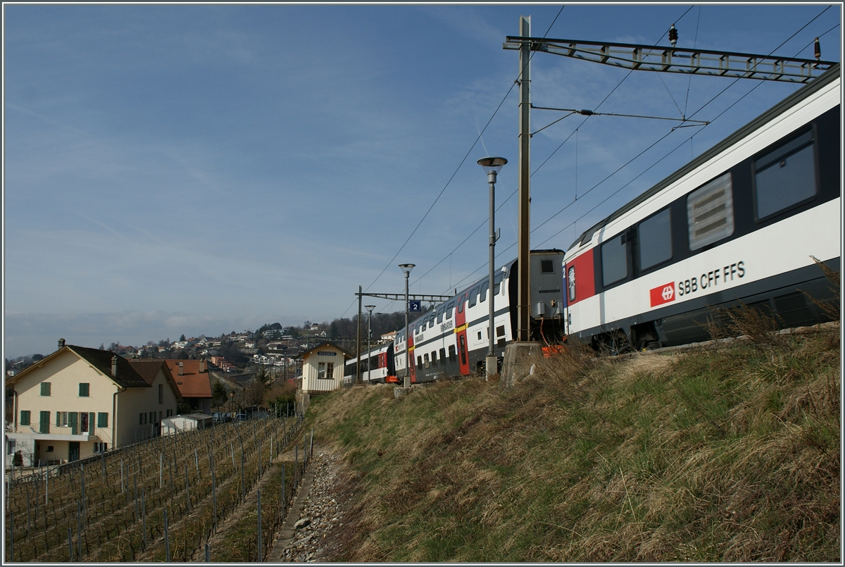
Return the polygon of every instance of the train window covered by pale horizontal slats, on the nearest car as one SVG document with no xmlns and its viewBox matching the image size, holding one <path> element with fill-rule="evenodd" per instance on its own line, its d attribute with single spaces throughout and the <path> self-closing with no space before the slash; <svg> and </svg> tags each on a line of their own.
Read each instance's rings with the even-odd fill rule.
<svg viewBox="0 0 845 567">
<path fill-rule="evenodd" d="M 731 174 L 725 173 L 687 196 L 690 250 L 733 234 L 733 194 Z"/>
</svg>

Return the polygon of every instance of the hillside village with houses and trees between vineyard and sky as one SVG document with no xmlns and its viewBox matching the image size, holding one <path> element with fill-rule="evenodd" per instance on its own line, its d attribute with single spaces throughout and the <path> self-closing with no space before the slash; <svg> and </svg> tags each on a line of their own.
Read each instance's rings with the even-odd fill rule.
<svg viewBox="0 0 845 567">
<path fill-rule="evenodd" d="M 362 349 L 368 326 L 375 346 L 392 339 L 395 330 L 384 330 L 400 319 L 404 313 L 381 314 L 362 324 Z M 357 319 L 264 324 L 143 346 L 58 339 L 54 352 L 6 360 L 6 454 L 22 453 L 25 466 L 74 461 L 186 429 L 292 411 L 308 399 L 301 394 L 313 390 L 311 378 L 341 387 L 344 360 L 357 341 Z M 327 349 L 335 352 L 332 363 L 316 361 Z M 320 384 L 322 391 L 326 380 Z"/>
</svg>

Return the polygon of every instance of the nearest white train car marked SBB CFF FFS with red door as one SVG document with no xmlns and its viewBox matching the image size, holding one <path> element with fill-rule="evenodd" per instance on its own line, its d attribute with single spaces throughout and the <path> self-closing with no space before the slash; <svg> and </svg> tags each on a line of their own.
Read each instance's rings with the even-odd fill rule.
<svg viewBox="0 0 845 567">
<path fill-rule="evenodd" d="M 739 302 L 783 327 L 828 320 L 811 258 L 840 269 L 841 79 L 810 85 L 639 198 L 566 252 L 566 332 L 615 352 L 709 337 Z"/>
</svg>

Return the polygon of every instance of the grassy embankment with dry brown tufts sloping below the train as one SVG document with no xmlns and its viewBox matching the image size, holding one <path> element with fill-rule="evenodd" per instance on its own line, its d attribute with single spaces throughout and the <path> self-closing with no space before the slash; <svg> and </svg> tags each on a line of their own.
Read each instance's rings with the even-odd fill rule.
<svg viewBox="0 0 845 567">
<path fill-rule="evenodd" d="M 839 326 L 758 335 L 314 399 L 355 478 L 336 559 L 840 561 Z"/>
</svg>

